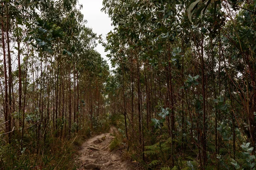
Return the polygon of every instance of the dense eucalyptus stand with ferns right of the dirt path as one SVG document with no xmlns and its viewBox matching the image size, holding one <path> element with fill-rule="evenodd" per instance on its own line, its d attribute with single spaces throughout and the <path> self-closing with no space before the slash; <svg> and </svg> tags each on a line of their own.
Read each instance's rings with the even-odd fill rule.
<svg viewBox="0 0 256 170">
<path fill-rule="evenodd" d="M 151 169 L 255 169 L 256 1 L 103 4 L 129 152 Z"/>
</svg>

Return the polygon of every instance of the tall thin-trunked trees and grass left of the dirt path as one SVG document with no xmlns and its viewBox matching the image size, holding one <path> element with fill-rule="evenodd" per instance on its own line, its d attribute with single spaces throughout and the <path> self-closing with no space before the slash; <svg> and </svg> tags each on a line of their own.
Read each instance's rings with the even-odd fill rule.
<svg viewBox="0 0 256 170">
<path fill-rule="evenodd" d="M 67 169 L 66 139 L 104 123 L 97 36 L 77 0 L 0 3 L 0 169 Z"/>
</svg>

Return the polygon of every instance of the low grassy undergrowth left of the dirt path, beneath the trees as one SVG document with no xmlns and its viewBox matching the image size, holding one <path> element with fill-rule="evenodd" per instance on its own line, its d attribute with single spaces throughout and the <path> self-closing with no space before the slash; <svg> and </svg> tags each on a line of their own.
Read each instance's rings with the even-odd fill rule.
<svg viewBox="0 0 256 170">
<path fill-rule="evenodd" d="M 79 127 L 77 132 L 68 136 L 55 137 L 54 132 L 37 138 L 36 130 L 28 129 L 23 136 L 23 150 L 20 151 L 19 134 L 12 135 L 11 143 L 0 136 L 1 170 L 74 170 L 75 153 L 84 140 L 92 134 L 107 132 L 109 119 L 95 121 L 93 130 L 90 123 Z"/>
</svg>

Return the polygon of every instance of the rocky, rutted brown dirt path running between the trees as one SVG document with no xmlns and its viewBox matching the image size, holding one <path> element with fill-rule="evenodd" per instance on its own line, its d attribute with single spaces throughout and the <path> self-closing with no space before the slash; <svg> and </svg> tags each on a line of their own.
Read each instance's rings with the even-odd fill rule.
<svg viewBox="0 0 256 170">
<path fill-rule="evenodd" d="M 114 139 L 115 127 L 109 133 L 93 136 L 79 147 L 76 157 L 77 170 L 142 170 L 137 162 L 125 160 L 122 151 L 110 152 L 109 146 Z"/>
</svg>

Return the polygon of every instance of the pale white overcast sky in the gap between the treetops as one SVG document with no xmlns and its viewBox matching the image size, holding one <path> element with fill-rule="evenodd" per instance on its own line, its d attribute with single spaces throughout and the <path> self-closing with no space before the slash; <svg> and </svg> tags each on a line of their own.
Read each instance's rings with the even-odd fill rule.
<svg viewBox="0 0 256 170">
<path fill-rule="evenodd" d="M 106 34 L 108 34 L 113 27 L 111 26 L 111 18 L 108 17 L 108 14 L 100 11 L 103 8 L 102 0 L 79 0 L 79 4 L 83 5 L 81 12 L 84 14 L 84 19 L 87 20 L 86 26 L 93 28 L 93 32 L 97 33 L 97 35 L 102 34 L 104 40 Z M 107 60 L 108 65 L 110 65 L 110 60 L 106 57 L 102 45 L 98 44 L 96 51 L 98 51 L 102 57 Z"/>
</svg>

